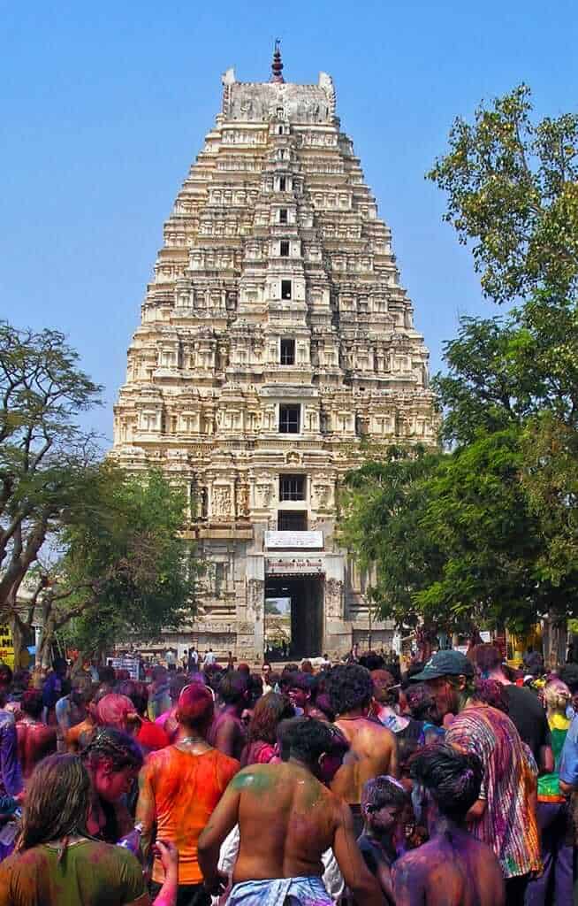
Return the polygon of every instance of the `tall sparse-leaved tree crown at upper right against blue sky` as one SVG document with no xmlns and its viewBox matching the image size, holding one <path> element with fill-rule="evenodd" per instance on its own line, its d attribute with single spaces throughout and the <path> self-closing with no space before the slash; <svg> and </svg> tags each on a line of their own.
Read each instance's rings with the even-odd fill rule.
<svg viewBox="0 0 578 906">
<path fill-rule="evenodd" d="M 445 219 L 472 243 L 484 292 L 498 303 L 536 289 L 573 297 L 578 276 L 578 116 L 532 119 L 526 85 L 450 130 L 428 174 Z"/>
</svg>

